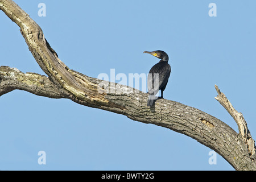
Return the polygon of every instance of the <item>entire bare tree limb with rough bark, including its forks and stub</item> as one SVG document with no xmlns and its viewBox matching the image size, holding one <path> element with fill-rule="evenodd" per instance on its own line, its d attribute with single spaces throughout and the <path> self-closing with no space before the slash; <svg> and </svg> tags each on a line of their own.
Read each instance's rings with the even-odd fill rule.
<svg viewBox="0 0 256 182">
<path fill-rule="evenodd" d="M 36 73 L 22 73 L 16 68 L 0 67 L 0 96 L 20 89 L 44 97 L 68 98 L 85 106 L 123 114 L 135 121 L 185 134 L 212 148 L 237 170 L 256 169 L 254 140 L 245 119 L 236 110 L 230 109 L 233 106 L 226 107 L 227 99 L 222 101 L 225 95 L 217 88 L 216 99 L 238 123 L 239 134 L 201 110 L 164 99 L 148 108 L 146 93 L 69 69 L 49 46 L 42 29 L 18 5 L 11 0 L 0 0 L 0 9 L 18 24 L 32 55 L 48 75 L 46 77 Z"/>
</svg>

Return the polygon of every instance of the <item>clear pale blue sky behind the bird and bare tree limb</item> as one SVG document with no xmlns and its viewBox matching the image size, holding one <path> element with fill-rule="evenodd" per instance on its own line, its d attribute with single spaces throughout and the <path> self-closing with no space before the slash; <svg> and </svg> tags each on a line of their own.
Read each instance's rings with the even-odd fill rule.
<svg viewBox="0 0 256 182">
<path fill-rule="evenodd" d="M 16 3 L 42 28 L 69 68 L 148 73 L 163 50 L 172 73 L 168 100 L 196 107 L 238 132 L 218 101 L 217 84 L 256 139 L 256 1 L 63 1 Z M 38 16 L 45 3 L 46 16 Z M 210 17 L 209 3 L 217 16 Z M 0 65 L 45 75 L 19 27 L 0 11 Z M 118 82 L 118 81 L 117 81 Z M 0 97 L 0 170 L 233 170 L 210 148 L 175 131 L 65 99 L 15 90 Z M 38 152 L 46 164 L 38 164 Z"/>
</svg>

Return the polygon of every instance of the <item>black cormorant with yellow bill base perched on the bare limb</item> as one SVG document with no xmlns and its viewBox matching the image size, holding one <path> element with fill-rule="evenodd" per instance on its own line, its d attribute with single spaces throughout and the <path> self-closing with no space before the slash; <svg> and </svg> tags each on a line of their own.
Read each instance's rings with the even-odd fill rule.
<svg viewBox="0 0 256 182">
<path fill-rule="evenodd" d="M 171 66 L 168 64 L 169 57 L 164 51 L 144 51 L 143 53 L 149 53 L 155 57 L 161 59 L 159 63 L 156 63 L 148 73 L 147 77 L 147 89 L 148 89 L 148 100 L 147 106 L 152 106 L 155 102 L 155 95 L 161 90 L 161 97 L 163 98 L 163 91 L 166 89 L 168 78 L 171 74 Z"/>
</svg>

